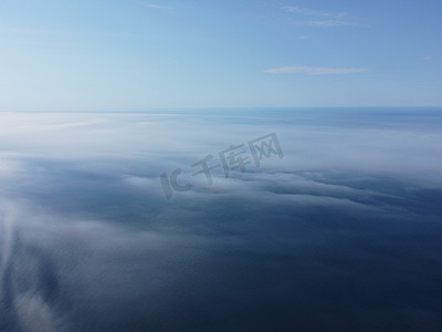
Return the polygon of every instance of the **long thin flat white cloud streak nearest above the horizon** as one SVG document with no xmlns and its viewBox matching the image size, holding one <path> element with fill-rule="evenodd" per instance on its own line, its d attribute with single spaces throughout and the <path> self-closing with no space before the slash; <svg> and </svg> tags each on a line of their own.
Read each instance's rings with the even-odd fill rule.
<svg viewBox="0 0 442 332">
<path fill-rule="evenodd" d="M 307 65 L 290 65 L 265 70 L 269 74 L 307 74 L 307 75 L 343 75 L 357 74 L 368 71 L 364 68 L 325 68 Z"/>
</svg>

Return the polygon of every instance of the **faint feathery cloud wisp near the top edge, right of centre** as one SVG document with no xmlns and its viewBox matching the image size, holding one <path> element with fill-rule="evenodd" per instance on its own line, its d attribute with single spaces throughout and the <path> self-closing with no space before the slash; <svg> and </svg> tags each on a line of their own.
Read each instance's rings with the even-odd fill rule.
<svg viewBox="0 0 442 332">
<path fill-rule="evenodd" d="M 312 10 L 308 8 L 301 8 L 294 6 L 285 6 L 284 10 L 296 17 L 297 23 L 302 25 L 312 27 L 343 27 L 343 25 L 356 25 L 352 18 L 344 11 L 330 12 Z"/>
</svg>

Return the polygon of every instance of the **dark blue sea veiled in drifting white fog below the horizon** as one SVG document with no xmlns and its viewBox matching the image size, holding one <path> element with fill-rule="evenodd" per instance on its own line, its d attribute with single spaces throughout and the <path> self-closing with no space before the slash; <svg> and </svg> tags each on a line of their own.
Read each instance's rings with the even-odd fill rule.
<svg viewBox="0 0 442 332">
<path fill-rule="evenodd" d="M 0 250 L 0 331 L 442 331 L 442 108 L 2 112 Z"/>
</svg>

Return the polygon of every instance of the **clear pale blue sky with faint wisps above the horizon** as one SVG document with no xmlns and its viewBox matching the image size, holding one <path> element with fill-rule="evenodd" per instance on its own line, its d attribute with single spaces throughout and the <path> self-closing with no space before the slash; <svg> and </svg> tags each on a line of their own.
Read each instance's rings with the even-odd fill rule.
<svg viewBox="0 0 442 332">
<path fill-rule="evenodd" d="M 4 0 L 1 111 L 442 105 L 442 3 Z"/>
</svg>

